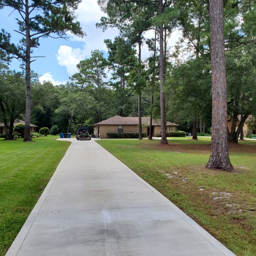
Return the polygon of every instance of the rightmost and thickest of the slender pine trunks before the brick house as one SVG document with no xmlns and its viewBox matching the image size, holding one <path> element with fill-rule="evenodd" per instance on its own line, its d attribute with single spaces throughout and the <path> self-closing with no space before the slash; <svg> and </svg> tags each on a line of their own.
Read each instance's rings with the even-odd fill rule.
<svg viewBox="0 0 256 256">
<path fill-rule="evenodd" d="M 163 13 L 163 0 L 159 0 L 159 15 Z M 161 111 L 161 144 L 168 144 L 166 137 L 165 120 L 165 93 L 164 85 L 164 52 L 163 52 L 163 25 L 159 28 L 159 54 L 160 54 L 160 111 Z"/>
</svg>

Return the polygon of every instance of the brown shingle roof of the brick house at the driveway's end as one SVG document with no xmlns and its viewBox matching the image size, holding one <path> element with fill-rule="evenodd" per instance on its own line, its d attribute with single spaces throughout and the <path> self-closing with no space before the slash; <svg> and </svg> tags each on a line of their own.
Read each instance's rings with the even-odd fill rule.
<svg viewBox="0 0 256 256">
<path fill-rule="evenodd" d="M 142 124 L 149 125 L 149 121 L 150 121 L 149 117 L 141 117 Z M 111 117 L 104 121 L 93 124 L 93 126 L 96 126 L 96 125 L 138 125 L 138 124 L 139 124 L 139 117 L 120 117 L 119 115 L 116 115 L 115 117 Z M 161 120 L 152 121 L 152 125 L 160 126 Z M 178 124 L 174 124 L 173 122 L 167 122 L 166 125 L 179 126 Z"/>
</svg>

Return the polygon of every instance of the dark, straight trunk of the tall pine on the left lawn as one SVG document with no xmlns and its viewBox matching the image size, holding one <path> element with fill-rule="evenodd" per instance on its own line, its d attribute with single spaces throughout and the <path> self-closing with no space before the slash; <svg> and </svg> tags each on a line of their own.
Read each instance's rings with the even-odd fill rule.
<svg viewBox="0 0 256 256">
<path fill-rule="evenodd" d="M 26 24 L 26 60 L 25 60 L 25 76 L 26 76 L 26 114 L 25 114 L 25 132 L 24 141 L 32 141 L 30 132 L 30 117 L 31 117 L 31 70 L 30 70 L 30 24 L 29 24 L 29 2 L 25 1 L 25 24 Z"/>
</svg>

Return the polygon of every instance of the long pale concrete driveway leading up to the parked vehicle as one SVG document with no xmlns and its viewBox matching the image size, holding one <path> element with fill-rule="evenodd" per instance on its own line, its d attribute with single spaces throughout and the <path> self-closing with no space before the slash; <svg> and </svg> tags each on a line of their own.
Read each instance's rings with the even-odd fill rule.
<svg viewBox="0 0 256 256">
<path fill-rule="evenodd" d="M 7 256 L 234 255 L 93 139 L 67 140 Z"/>
</svg>

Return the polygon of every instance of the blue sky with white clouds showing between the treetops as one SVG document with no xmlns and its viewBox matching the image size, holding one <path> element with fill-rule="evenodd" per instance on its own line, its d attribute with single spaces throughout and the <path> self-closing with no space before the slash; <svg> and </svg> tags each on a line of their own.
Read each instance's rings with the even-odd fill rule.
<svg viewBox="0 0 256 256">
<path fill-rule="evenodd" d="M 80 22 L 83 31 L 87 36 L 80 38 L 69 35 L 70 39 L 52 39 L 41 38 L 38 49 L 35 49 L 33 56 L 45 56 L 45 58 L 37 58 L 31 65 L 32 70 L 40 75 L 39 80 L 52 82 L 54 85 L 66 83 L 69 76 L 74 74 L 77 69 L 76 65 L 79 61 L 89 58 L 92 50 L 101 50 L 104 57 L 108 57 L 108 49 L 104 44 L 104 39 L 114 39 L 119 34 L 115 28 L 108 29 L 102 32 L 101 29 L 96 28 L 96 22 L 100 21 L 105 14 L 100 10 L 97 0 L 82 0 L 77 9 L 77 20 Z M 0 29 L 4 28 L 11 33 L 11 41 L 18 43 L 20 34 L 14 32 L 18 30 L 15 17 L 18 17 L 17 12 L 13 9 L 4 7 L 0 9 Z M 149 31 L 144 35 L 145 37 L 154 37 L 154 32 Z M 172 35 L 169 40 L 170 45 L 174 45 L 178 38 L 178 33 Z M 147 46 L 142 47 L 142 59 L 150 56 Z M 19 62 L 13 60 L 10 68 L 19 69 Z"/>
</svg>

